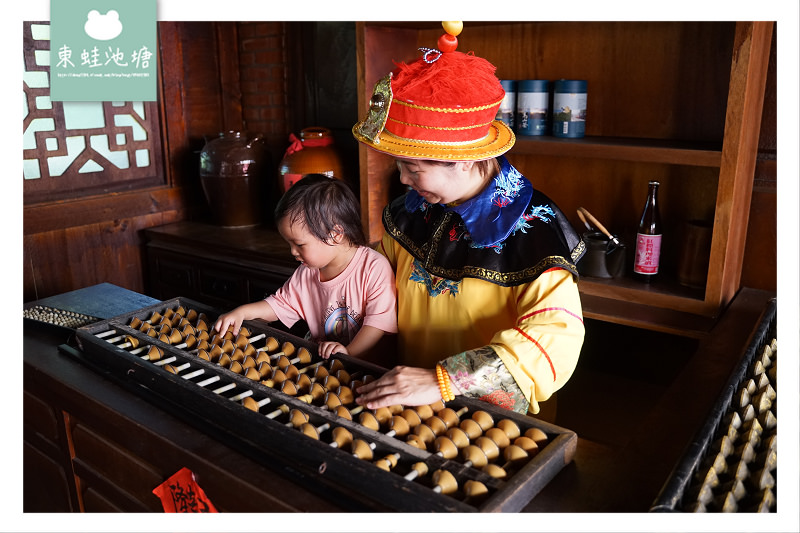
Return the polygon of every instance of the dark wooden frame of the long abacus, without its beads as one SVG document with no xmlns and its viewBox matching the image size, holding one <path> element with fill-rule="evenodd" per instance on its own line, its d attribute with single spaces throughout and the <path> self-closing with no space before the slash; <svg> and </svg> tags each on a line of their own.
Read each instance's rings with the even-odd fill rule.
<svg viewBox="0 0 800 533">
<path fill-rule="evenodd" d="M 515 468 L 506 479 L 491 477 L 456 459 L 445 459 L 427 450 L 416 448 L 399 438 L 387 436 L 369 429 L 356 420 L 348 420 L 326 409 L 324 405 L 306 403 L 262 385 L 244 375 L 205 361 L 190 351 L 177 349 L 157 338 L 148 337 L 129 327 L 131 320 L 146 321 L 154 312 L 163 314 L 167 309 L 193 309 L 211 319 L 209 328 L 219 312 L 201 303 L 174 298 L 145 307 L 128 314 L 84 326 L 77 330 L 81 349 L 80 357 L 107 377 L 129 388 L 136 394 L 180 417 L 182 420 L 212 434 L 232 448 L 253 460 L 284 471 L 287 476 L 309 490 L 324 494 L 331 501 L 350 511 L 403 511 L 403 512 L 517 512 L 530 502 L 539 491 L 568 463 L 572 461 L 577 446 L 577 435 L 567 429 L 548 424 L 535 418 L 495 407 L 484 402 L 457 398 L 447 407 L 466 409 L 466 413 L 485 411 L 495 420 L 510 419 L 521 432 L 530 428 L 542 430 L 548 437 L 540 451 Z M 281 344 L 291 342 L 296 348 L 306 348 L 312 353 L 309 364 L 319 362 L 316 345 L 277 330 L 259 321 L 245 322 L 251 336 L 265 334 L 275 337 Z M 114 330 L 116 333 L 108 334 Z M 100 335 L 100 337 L 98 337 Z M 103 335 L 106 335 L 103 337 Z M 118 336 L 133 336 L 144 344 L 159 347 L 166 358 L 175 358 L 174 364 L 186 367 L 186 372 L 172 374 L 157 362 L 142 359 L 128 350 L 119 348 L 106 339 Z M 332 358 L 333 360 L 334 358 Z M 386 370 L 366 361 L 337 355 L 345 369 L 351 373 L 362 372 L 375 377 Z M 327 363 L 326 363 L 327 364 Z M 202 371 L 202 372 L 200 372 Z M 182 375 L 193 374 L 192 379 Z M 217 377 L 214 392 L 198 383 L 209 377 Z M 197 378 L 197 379 L 195 379 Z M 222 385 L 222 387 L 220 387 Z M 249 392 L 248 392 L 249 391 Z M 252 411 L 238 401 L 242 395 L 259 398 L 259 411 Z M 232 401 L 232 399 L 234 399 Z M 297 428 L 286 424 L 282 414 L 267 418 L 266 413 L 285 405 L 289 409 L 303 411 L 314 426 L 328 425 L 330 431 L 341 426 L 354 438 L 374 443 L 373 459 L 388 455 L 397 457 L 397 467 L 383 470 L 372 461 L 353 456 L 349 451 L 331 447 L 324 440 L 304 435 Z M 466 416 L 466 415 L 465 415 Z M 424 462 L 428 474 L 413 481 L 404 475 L 411 465 Z M 469 480 L 483 483 L 489 494 L 483 500 L 473 502 L 459 488 L 456 493 L 446 495 L 433 490 L 431 474 L 439 469 L 448 470 L 463 487 Z"/>
</svg>

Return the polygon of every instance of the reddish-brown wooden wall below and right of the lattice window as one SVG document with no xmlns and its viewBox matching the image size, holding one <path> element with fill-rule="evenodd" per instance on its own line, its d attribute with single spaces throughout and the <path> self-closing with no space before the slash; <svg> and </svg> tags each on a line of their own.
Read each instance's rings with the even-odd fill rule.
<svg viewBox="0 0 800 533">
<path fill-rule="evenodd" d="M 162 187 L 26 205 L 25 301 L 109 282 L 144 290 L 144 228 L 202 217 L 207 138 L 241 128 L 235 22 L 161 22 Z"/>
</svg>

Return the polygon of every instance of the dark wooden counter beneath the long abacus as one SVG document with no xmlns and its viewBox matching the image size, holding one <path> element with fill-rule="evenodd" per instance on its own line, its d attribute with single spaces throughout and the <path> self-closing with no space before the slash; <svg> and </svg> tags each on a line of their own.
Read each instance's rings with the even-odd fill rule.
<svg viewBox="0 0 800 533">
<path fill-rule="evenodd" d="M 646 512 L 772 296 L 741 291 L 634 437 L 623 446 L 579 438 L 573 462 L 524 511 Z M 182 467 L 220 511 L 348 511 L 59 350 L 70 340 L 67 330 L 26 321 L 26 512 L 160 512 L 152 490 Z"/>
</svg>

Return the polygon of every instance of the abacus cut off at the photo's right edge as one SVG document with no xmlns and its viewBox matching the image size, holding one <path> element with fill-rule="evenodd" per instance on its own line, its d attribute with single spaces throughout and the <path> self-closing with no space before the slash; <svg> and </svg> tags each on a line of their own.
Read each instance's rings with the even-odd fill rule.
<svg viewBox="0 0 800 533">
<path fill-rule="evenodd" d="M 778 339 L 773 300 L 651 511 L 775 512 Z"/>
</svg>

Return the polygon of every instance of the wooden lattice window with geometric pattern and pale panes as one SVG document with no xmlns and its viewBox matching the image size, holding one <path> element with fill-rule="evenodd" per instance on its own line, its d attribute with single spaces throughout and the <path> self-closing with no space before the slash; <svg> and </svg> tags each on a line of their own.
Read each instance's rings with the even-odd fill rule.
<svg viewBox="0 0 800 533">
<path fill-rule="evenodd" d="M 25 204 L 165 182 L 157 102 L 50 99 L 50 26 L 23 23 Z"/>
</svg>

